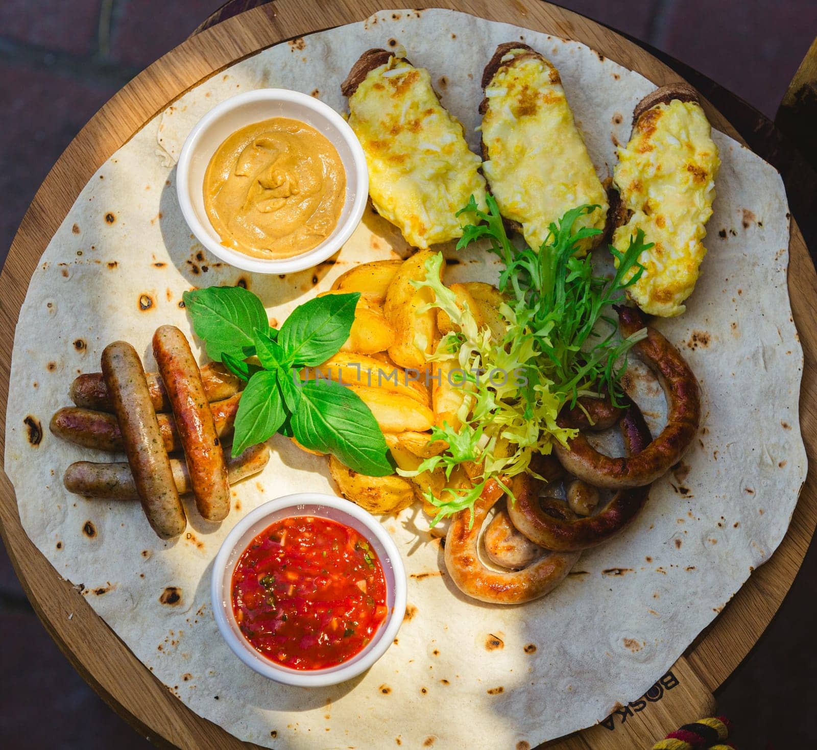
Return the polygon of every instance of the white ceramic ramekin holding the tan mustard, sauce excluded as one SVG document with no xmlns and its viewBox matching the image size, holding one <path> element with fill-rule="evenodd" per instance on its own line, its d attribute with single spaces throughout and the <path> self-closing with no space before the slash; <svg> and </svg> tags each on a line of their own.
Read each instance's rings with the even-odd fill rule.
<svg viewBox="0 0 817 750">
<path fill-rule="evenodd" d="M 221 244 L 204 209 L 204 173 L 217 148 L 239 128 L 273 117 L 311 125 L 332 142 L 346 170 L 346 199 L 337 226 L 316 248 L 291 258 L 267 260 Z M 216 105 L 190 131 L 176 167 L 176 193 L 181 213 L 196 239 L 231 266 L 256 274 L 291 274 L 317 266 L 337 252 L 360 223 L 368 197 L 368 169 L 355 132 L 332 107 L 314 96 L 284 88 L 260 88 L 232 96 Z"/>
</svg>

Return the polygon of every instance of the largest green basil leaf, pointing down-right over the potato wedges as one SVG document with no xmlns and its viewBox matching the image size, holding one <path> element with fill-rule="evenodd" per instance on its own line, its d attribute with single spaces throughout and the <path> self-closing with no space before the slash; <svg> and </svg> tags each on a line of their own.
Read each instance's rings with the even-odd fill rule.
<svg viewBox="0 0 817 750">
<path fill-rule="evenodd" d="M 386 439 L 371 410 L 359 395 L 340 383 L 304 382 L 301 401 L 290 417 L 290 425 L 296 440 L 305 448 L 334 453 L 353 471 L 367 476 L 394 472 L 387 458 Z"/>
</svg>

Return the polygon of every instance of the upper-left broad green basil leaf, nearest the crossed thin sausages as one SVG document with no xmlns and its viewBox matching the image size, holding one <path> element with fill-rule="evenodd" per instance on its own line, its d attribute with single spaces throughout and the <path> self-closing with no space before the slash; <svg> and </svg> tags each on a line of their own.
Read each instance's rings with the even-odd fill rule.
<svg viewBox="0 0 817 750">
<path fill-rule="evenodd" d="M 224 352 L 239 359 L 254 355 L 252 333 L 270 326 L 261 300 L 243 287 L 208 287 L 181 298 L 210 359 L 220 360 Z"/>
</svg>

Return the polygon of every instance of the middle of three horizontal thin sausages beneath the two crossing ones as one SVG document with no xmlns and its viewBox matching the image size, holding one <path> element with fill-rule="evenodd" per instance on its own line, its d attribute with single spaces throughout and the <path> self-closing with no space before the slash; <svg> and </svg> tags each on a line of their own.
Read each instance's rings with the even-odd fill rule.
<svg viewBox="0 0 817 750">
<path fill-rule="evenodd" d="M 239 410 L 241 394 L 229 399 L 210 404 L 216 432 L 221 442 L 229 441 L 233 435 L 235 414 Z M 157 414 L 158 430 L 167 453 L 181 450 L 181 439 L 176 430 L 172 414 Z M 58 409 L 51 417 L 51 432 L 69 443 L 82 445 L 84 448 L 104 450 L 108 453 L 121 453 L 124 450 L 122 432 L 113 414 L 95 412 L 79 406 L 65 406 Z"/>
</svg>

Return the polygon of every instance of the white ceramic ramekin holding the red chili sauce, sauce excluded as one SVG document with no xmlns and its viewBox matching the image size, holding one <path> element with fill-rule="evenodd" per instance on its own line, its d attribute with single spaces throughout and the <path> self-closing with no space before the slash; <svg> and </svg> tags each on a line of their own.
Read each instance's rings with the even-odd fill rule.
<svg viewBox="0 0 817 750">
<path fill-rule="evenodd" d="M 318 516 L 346 524 L 367 539 L 383 567 L 388 614 L 364 650 L 348 662 L 327 669 L 301 670 L 283 667 L 266 658 L 244 638 L 235 621 L 231 588 L 235 564 L 252 539 L 276 520 L 289 516 Z M 400 552 L 383 525 L 354 502 L 324 495 L 300 493 L 265 502 L 233 527 L 218 551 L 212 567 L 212 611 L 221 636 L 243 663 L 276 682 L 298 687 L 337 685 L 356 677 L 386 653 L 403 623 L 406 609 L 406 572 Z"/>
</svg>

